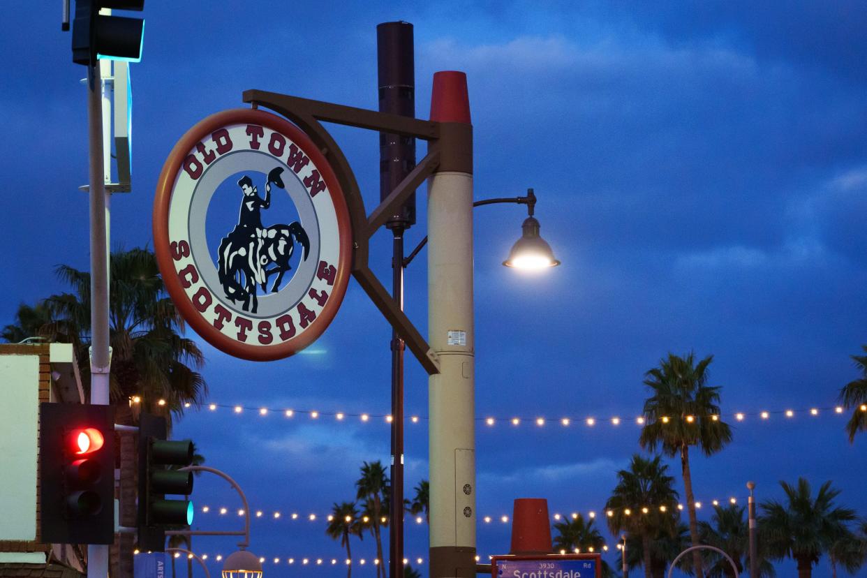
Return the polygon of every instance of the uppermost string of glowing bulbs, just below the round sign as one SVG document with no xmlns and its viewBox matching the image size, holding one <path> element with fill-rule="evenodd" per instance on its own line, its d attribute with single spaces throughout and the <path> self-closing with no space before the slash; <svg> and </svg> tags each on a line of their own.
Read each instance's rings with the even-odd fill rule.
<svg viewBox="0 0 867 578">
<path fill-rule="evenodd" d="M 131 404 L 139 404 L 141 399 L 139 396 L 135 395 L 130 398 Z M 166 400 L 160 399 L 157 404 L 159 406 L 165 406 Z M 190 403 L 184 404 L 184 406 L 189 409 L 192 405 Z M 260 418 L 269 417 L 269 416 L 282 416 L 285 419 L 310 419 L 310 420 L 320 420 L 324 421 L 328 419 L 331 423 L 347 423 L 350 420 L 357 420 L 362 423 L 368 422 L 384 422 L 390 424 L 393 421 L 393 418 L 390 414 L 387 413 L 371 413 L 371 412 L 323 412 L 318 410 L 310 410 L 310 409 L 292 409 L 292 408 L 274 408 L 274 407 L 251 407 L 251 406 L 241 406 L 241 405 L 228 405 L 228 404 L 218 404 L 218 403 L 206 403 L 203 404 L 203 408 L 206 408 L 205 414 L 207 413 L 216 413 L 220 410 L 230 410 L 233 415 L 241 416 L 241 415 L 249 415 L 254 414 L 259 416 Z M 750 411 L 750 412 L 721 412 L 719 415 L 710 415 L 707 416 L 709 419 L 714 421 L 718 421 L 720 418 L 730 418 L 735 422 L 744 422 L 749 419 L 759 419 L 761 422 L 771 421 L 772 418 L 776 417 L 784 417 L 785 419 L 795 419 L 799 416 L 807 416 L 810 418 L 817 418 L 820 415 L 825 415 L 831 413 L 831 415 L 842 416 L 845 414 L 844 406 L 812 406 L 808 408 L 801 409 L 778 409 L 778 410 L 758 410 L 758 411 Z M 862 404 L 857 407 L 857 411 L 867 412 L 867 404 Z M 659 421 L 662 421 L 663 424 L 673 423 L 677 419 L 683 419 L 689 424 L 695 423 L 700 416 L 687 415 L 687 416 L 662 416 Z M 332 421 L 333 420 L 333 421 Z M 410 415 L 407 419 L 409 424 L 419 424 L 421 421 L 427 421 L 427 416 L 420 415 Z M 497 416 L 486 416 L 486 417 L 478 417 L 476 421 L 484 424 L 488 427 L 493 427 L 496 425 L 510 425 L 512 427 L 518 427 L 520 425 L 535 425 L 537 427 L 544 427 L 545 425 L 560 425 L 562 427 L 570 427 L 572 425 L 583 425 L 587 427 L 593 427 L 595 425 L 612 425 L 618 426 L 627 423 L 632 423 L 634 425 L 645 425 L 647 420 L 639 415 L 633 418 L 622 418 L 619 416 L 610 416 L 607 418 L 596 418 L 596 417 L 583 417 L 583 418 L 575 418 L 575 417 L 561 417 L 561 418 L 547 418 L 544 416 L 536 416 L 536 417 L 522 417 L 522 416 L 512 416 L 512 417 L 497 417 Z"/>
</svg>

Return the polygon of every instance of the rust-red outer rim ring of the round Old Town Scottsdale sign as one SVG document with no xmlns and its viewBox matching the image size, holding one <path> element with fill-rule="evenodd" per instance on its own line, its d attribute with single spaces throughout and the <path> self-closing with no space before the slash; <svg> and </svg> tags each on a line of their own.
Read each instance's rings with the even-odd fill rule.
<svg viewBox="0 0 867 578">
<path fill-rule="evenodd" d="M 192 302 L 180 284 L 169 247 L 169 205 L 172 200 L 175 179 L 178 172 L 182 170 L 182 164 L 184 159 L 186 159 L 186 155 L 196 146 L 196 143 L 209 138 L 218 128 L 244 123 L 262 125 L 283 133 L 290 140 L 296 142 L 303 149 L 303 152 L 310 157 L 310 160 L 316 165 L 325 181 L 325 185 L 328 187 L 331 200 L 334 204 L 337 230 L 340 235 L 340 258 L 337 263 L 335 283 L 328 302 L 325 303 L 322 312 L 316 315 L 316 319 L 310 322 L 310 327 L 302 334 L 291 337 L 288 341 L 278 343 L 277 345 L 257 346 L 232 340 L 225 334 L 220 333 L 209 321 L 205 320 L 205 317 L 192 305 Z M 325 159 L 323 153 L 320 152 L 319 148 L 310 140 L 310 137 L 306 133 L 303 133 L 300 128 L 290 123 L 289 120 L 285 120 L 276 114 L 251 108 L 234 108 L 212 114 L 200 120 L 175 144 L 172 152 L 169 153 L 168 159 L 166 159 L 165 165 L 163 165 L 160 179 L 157 181 L 156 196 L 153 199 L 153 249 L 166 290 L 175 306 L 179 309 L 180 314 L 199 336 L 221 351 L 245 360 L 271 361 L 283 359 L 301 351 L 323 334 L 325 328 L 329 326 L 329 323 L 337 314 L 337 309 L 340 308 L 343 296 L 346 295 L 352 264 L 352 238 L 349 208 L 347 207 L 346 199 L 343 196 L 343 191 L 334 169 L 331 168 L 328 160 Z"/>
</svg>

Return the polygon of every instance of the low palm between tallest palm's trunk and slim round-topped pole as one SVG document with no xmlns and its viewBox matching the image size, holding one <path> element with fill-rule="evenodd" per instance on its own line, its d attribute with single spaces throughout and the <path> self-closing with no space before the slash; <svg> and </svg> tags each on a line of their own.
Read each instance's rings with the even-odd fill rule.
<svg viewBox="0 0 867 578">
<path fill-rule="evenodd" d="M 745 511 L 743 506 L 735 504 L 714 506 L 711 523 L 699 523 L 701 542 L 719 548 L 731 556 L 739 575 L 743 574 L 744 568 L 749 567 L 749 526 L 744 517 Z M 713 562 L 710 568 L 707 568 L 708 578 L 733 578 L 732 566 L 725 558 L 720 555 L 708 557 Z M 775 575 L 771 563 L 766 560 L 762 551 L 759 551 L 759 575 L 764 578 Z"/>
</svg>

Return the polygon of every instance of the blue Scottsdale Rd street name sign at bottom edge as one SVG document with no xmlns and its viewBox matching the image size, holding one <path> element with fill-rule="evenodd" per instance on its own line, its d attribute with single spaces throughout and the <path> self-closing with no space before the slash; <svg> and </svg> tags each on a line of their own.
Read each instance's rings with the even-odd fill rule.
<svg viewBox="0 0 867 578">
<path fill-rule="evenodd" d="M 598 554 L 495 555 L 492 578 L 602 578 Z"/>
</svg>

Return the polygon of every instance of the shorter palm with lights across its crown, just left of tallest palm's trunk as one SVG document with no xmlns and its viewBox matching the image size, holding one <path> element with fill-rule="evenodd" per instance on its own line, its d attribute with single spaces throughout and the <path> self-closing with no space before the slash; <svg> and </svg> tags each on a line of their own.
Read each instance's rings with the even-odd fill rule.
<svg viewBox="0 0 867 578">
<path fill-rule="evenodd" d="M 650 541 L 661 529 L 672 525 L 671 512 L 678 497 L 675 478 L 668 476 L 668 465 L 660 459 L 634 455 L 629 469 L 617 472 L 617 485 L 605 504 L 610 511 L 608 527 L 612 534 L 626 531 L 629 536 L 641 537 L 646 578 L 652 577 Z"/>
</svg>

